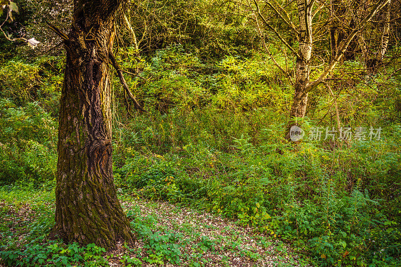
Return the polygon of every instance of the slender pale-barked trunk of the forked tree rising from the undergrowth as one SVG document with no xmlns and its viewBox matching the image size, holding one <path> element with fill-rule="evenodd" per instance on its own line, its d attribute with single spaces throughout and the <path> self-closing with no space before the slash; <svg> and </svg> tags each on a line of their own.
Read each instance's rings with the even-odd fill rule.
<svg viewBox="0 0 401 267">
<path fill-rule="evenodd" d="M 303 118 L 306 115 L 308 92 L 305 91 L 310 78 L 310 59 L 312 56 L 312 6 L 309 1 L 298 0 L 299 17 L 299 49 L 295 66 L 295 93 L 291 106 L 290 121 L 287 125 L 286 138 L 290 138 L 290 129 L 297 125 L 294 118 Z"/>
</svg>

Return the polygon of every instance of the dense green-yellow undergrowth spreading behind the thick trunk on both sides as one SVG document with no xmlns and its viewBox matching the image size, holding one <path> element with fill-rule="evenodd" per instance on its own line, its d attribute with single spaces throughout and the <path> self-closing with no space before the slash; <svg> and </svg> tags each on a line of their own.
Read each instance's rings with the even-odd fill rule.
<svg viewBox="0 0 401 267">
<path fill-rule="evenodd" d="M 380 77 L 362 83 L 337 71 L 345 77 L 338 84 L 341 123 L 380 126 L 381 140 L 293 144 L 283 138 L 292 91 L 265 55 L 206 62 L 180 46 L 141 60 L 124 53 L 119 63 L 138 74 L 126 75 L 127 83 L 148 112 L 127 110 L 114 79 L 118 188 L 238 218 L 291 243 L 312 265 L 401 264 L 400 125 L 392 97 L 399 81 L 377 93 Z M 55 185 L 62 61 L 0 66 L 2 186 Z M 345 87 L 346 79 L 357 85 Z M 311 99 L 305 130 L 334 127 L 330 95 L 317 90 Z M 17 249 L 7 240 L 2 245 L 3 259 Z M 21 253 L 35 248 L 26 246 Z M 98 253 L 68 249 L 77 258 Z"/>
</svg>

